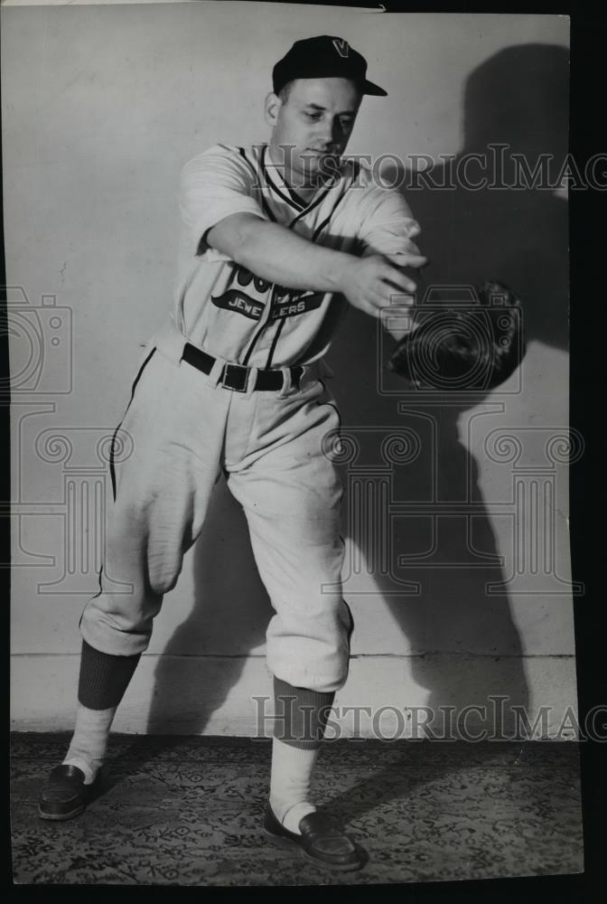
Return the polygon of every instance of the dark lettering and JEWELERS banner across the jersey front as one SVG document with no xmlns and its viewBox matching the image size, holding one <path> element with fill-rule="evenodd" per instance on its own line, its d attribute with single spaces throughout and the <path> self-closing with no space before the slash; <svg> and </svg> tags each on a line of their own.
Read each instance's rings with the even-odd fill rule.
<svg viewBox="0 0 607 904">
<path fill-rule="evenodd" d="M 246 292 L 243 291 L 244 288 L 247 289 Z M 266 307 L 270 289 L 273 289 L 271 320 L 313 311 L 322 305 L 324 298 L 323 292 L 306 293 L 301 289 L 273 286 L 266 279 L 254 276 L 247 268 L 236 266 L 227 290 L 222 295 L 211 296 L 210 300 L 216 307 L 221 307 L 226 311 L 235 311 L 251 320 L 259 320 Z M 252 295 L 257 295 L 257 297 L 251 297 Z"/>
</svg>

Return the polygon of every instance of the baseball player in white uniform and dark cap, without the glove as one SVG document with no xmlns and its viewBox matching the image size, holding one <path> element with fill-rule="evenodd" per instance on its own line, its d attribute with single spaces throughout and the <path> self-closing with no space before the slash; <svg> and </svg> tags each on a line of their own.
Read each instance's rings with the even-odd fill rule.
<svg viewBox="0 0 607 904">
<path fill-rule="evenodd" d="M 400 194 L 342 157 L 362 97 L 387 93 L 366 71 L 339 37 L 295 42 L 266 98 L 269 143 L 218 144 L 182 169 L 179 290 L 117 428 L 134 451 L 110 463 L 100 589 L 79 623 L 76 727 L 42 791 L 42 818 L 68 819 L 89 800 L 117 705 L 223 473 L 274 608 L 266 832 L 333 869 L 363 862 L 310 800 L 353 627 L 341 595 L 342 489 L 327 450 L 340 419 L 323 358 L 349 305 L 378 317 L 395 294 L 415 292 L 403 268 L 425 263 Z M 112 593 L 106 575 L 132 592 Z"/>
</svg>

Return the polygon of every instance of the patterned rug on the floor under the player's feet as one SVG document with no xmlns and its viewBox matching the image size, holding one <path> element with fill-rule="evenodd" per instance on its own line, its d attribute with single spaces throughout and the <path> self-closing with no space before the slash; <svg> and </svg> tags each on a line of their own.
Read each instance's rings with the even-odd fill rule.
<svg viewBox="0 0 607 904">
<path fill-rule="evenodd" d="M 315 800 L 369 854 L 339 874 L 263 833 L 267 739 L 113 735 L 102 794 L 76 819 L 45 822 L 38 795 L 68 742 L 13 736 L 17 883 L 367 885 L 583 869 L 572 742 L 325 743 Z"/>
</svg>

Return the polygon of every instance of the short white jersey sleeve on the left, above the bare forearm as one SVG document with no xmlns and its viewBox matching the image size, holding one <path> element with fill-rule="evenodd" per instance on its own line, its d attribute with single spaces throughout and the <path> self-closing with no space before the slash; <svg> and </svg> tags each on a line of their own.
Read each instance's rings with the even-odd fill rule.
<svg viewBox="0 0 607 904">
<path fill-rule="evenodd" d="M 266 216 L 254 197 L 256 174 L 238 148 L 213 145 L 182 167 L 179 208 L 182 223 L 201 250 L 207 233 L 233 213 Z"/>
</svg>

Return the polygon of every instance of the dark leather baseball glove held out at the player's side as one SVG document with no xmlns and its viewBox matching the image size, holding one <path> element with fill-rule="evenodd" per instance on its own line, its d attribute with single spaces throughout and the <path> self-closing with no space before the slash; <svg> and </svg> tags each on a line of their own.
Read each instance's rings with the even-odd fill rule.
<svg viewBox="0 0 607 904">
<path fill-rule="evenodd" d="M 388 370 L 418 389 L 494 389 L 522 361 L 520 302 L 503 283 L 484 283 L 465 306 L 441 302 L 417 311 L 418 323 L 398 342 Z"/>
</svg>

